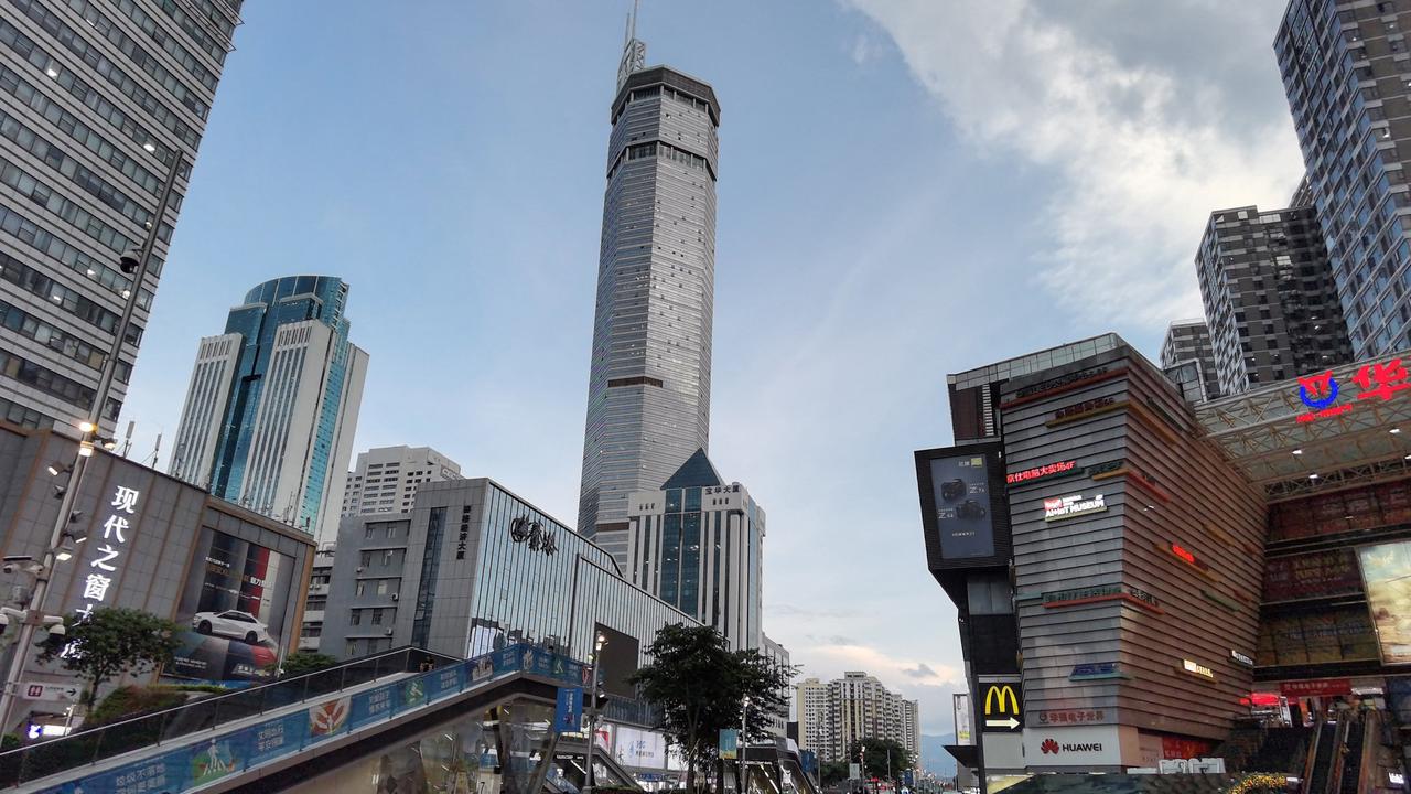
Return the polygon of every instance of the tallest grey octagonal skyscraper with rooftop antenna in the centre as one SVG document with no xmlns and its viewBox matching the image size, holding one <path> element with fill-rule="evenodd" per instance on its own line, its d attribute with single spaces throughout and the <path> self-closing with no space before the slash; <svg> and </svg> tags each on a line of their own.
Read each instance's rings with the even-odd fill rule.
<svg viewBox="0 0 1411 794">
<path fill-rule="evenodd" d="M 643 68 L 628 35 L 612 102 L 579 531 L 622 555 L 626 497 L 710 438 L 720 103 Z"/>
</svg>

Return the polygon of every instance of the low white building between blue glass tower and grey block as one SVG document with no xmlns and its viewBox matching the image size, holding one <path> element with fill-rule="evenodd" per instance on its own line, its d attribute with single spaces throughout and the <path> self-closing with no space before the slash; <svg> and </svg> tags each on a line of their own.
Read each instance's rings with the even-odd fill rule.
<svg viewBox="0 0 1411 794">
<path fill-rule="evenodd" d="M 378 446 L 358 452 L 343 494 L 343 514 L 409 513 L 416 486 L 464 479 L 460 463 L 430 446 Z"/>
</svg>

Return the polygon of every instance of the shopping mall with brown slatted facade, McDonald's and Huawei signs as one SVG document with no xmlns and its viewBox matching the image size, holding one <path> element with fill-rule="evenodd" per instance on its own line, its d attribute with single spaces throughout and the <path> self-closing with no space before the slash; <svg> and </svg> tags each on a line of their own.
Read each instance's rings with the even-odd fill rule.
<svg viewBox="0 0 1411 794">
<path fill-rule="evenodd" d="M 957 445 L 916 463 L 928 567 L 959 613 L 957 721 L 982 737 L 952 749 L 964 766 L 1298 771 L 1260 742 L 1309 756 L 1331 730 L 1329 757 L 1364 749 L 1348 773 L 1363 790 L 1401 780 L 1411 377 L 1395 356 L 1189 405 L 1105 335 L 948 387 Z M 1363 708 L 1379 715 L 1338 718 Z"/>
</svg>

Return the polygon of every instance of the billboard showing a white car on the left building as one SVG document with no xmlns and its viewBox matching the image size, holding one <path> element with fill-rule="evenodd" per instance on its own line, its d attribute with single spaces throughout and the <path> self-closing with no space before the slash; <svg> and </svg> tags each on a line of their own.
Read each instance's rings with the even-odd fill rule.
<svg viewBox="0 0 1411 794">
<path fill-rule="evenodd" d="M 206 681 L 274 678 L 288 641 L 284 617 L 293 558 L 212 528 L 202 530 L 196 554 L 199 562 L 176 609 L 186 632 L 164 674 Z"/>
</svg>

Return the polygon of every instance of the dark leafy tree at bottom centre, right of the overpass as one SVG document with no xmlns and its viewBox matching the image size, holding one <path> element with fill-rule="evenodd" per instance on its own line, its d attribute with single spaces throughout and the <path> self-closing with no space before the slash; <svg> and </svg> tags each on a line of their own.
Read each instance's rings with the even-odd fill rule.
<svg viewBox="0 0 1411 794">
<path fill-rule="evenodd" d="M 739 728 L 749 698 L 748 740 L 762 737 L 769 712 L 789 708 L 786 688 L 793 668 L 758 650 L 731 651 L 715 629 L 674 623 L 648 647 L 652 664 L 632 682 L 662 711 L 660 728 L 686 756 L 686 790 L 696 791 L 696 770 L 710 769 L 720 732 Z"/>
</svg>

